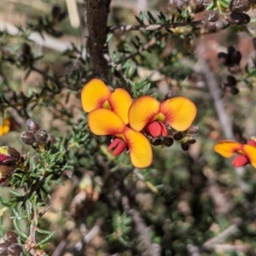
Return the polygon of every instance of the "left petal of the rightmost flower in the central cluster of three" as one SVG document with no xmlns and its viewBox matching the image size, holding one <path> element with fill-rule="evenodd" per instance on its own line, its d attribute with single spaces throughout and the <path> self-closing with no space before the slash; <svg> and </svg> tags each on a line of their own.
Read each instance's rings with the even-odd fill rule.
<svg viewBox="0 0 256 256">
<path fill-rule="evenodd" d="M 131 104 L 128 118 L 131 128 L 142 131 L 144 126 L 154 120 L 160 111 L 160 102 L 152 96 L 141 96 Z"/>
</svg>

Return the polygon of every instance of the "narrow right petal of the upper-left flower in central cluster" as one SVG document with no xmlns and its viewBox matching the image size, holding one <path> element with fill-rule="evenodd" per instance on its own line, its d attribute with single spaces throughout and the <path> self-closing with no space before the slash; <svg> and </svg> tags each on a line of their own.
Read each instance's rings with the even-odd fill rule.
<svg viewBox="0 0 256 256">
<path fill-rule="evenodd" d="M 117 113 L 121 119 L 128 124 L 128 110 L 131 107 L 131 95 L 127 90 L 118 88 L 109 97 L 109 105 L 114 113 Z"/>
</svg>

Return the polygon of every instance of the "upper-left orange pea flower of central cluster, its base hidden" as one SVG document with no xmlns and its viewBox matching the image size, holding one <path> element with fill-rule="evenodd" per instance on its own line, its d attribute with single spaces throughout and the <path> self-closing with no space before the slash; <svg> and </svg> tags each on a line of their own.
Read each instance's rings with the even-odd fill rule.
<svg viewBox="0 0 256 256">
<path fill-rule="evenodd" d="M 86 113 L 96 108 L 108 108 L 118 114 L 125 124 L 128 124 L 128 109 L 132 100 L 130 94 L 122 88 L 117 88 L 112 92 L 102 80 L 91 79 L 84 85 L 81 101 Z"/>
</svg>

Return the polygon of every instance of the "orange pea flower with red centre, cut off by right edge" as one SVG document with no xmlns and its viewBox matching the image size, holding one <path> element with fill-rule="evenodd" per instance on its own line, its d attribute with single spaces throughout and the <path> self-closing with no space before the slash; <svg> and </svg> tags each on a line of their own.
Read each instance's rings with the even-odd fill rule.
<svg viewBox="0 0 256 256">
<path fill-rule="evenodd" d="M 254 138 L 249 139 L 246 144 L 228 140 L 220 141 L 213 149 L 225 158 L 238 154 L 232 161 L 232 165 L 236 168 L 247 164 L 256 168 L 256 141 Z"/>
</svg>

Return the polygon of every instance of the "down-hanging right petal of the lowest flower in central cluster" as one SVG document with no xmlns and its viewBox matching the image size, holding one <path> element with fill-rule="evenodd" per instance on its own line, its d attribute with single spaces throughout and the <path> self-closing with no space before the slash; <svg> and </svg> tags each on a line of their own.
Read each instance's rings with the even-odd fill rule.
<svg viewBox="0 0 256 256">
<path fill-rule="evenodd" d="M 137 168 L 145 168 L 152 163 L 152 148 L 148 139 L 138 131 L 129 128 L 124 133 L 131 155 L 131 163 Z"/>
</svg>

